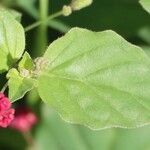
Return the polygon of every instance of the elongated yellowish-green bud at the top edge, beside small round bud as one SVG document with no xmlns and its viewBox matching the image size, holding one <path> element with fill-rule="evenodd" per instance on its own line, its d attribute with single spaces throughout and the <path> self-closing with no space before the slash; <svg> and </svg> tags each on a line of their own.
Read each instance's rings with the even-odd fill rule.
<svg viewBox="0 0 150 150">
<path fill-rule="evenodd" d="M 72 10 L 80 10 L 84 7 L 91 5 L 93 0 L 72 0 L 71 8 Z"/>
</svg>

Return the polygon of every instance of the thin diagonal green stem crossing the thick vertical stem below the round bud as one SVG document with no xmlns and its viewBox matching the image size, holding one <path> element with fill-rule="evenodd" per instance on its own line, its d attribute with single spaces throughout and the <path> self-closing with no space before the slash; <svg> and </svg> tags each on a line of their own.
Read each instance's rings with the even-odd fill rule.
<svg viewBox="0 0 150 150">
<path fill-rule="evenodd" d="M 37 21 L 37 22 L 35 22 L 35 23 L 33 23 L 33 24 L 27 26 L 27 27 L 25 28 L 25 32 L 28 32 L 28 31 L 30 31 L 30 30 L 32 30 L 32 29 L 38 27 L 39 25 L 41 25 L 41 24 L 43 24 L 43 23 L 47 23 L 47 21 L 49 21 L 49 20 L 51 20 L 51 19 L 54 19 L 54 18 L 56 18 L 56 17 L 59 17 L 59 16 L 61 16 L 61 15 L 62 15 L 62 11 L 58 11 L 58 12 L 56 12 L 56 13 L 54 13 L 54 14 L 48 16 L 45 20 L 40 20 L 40 21 Z"/>
</svg>

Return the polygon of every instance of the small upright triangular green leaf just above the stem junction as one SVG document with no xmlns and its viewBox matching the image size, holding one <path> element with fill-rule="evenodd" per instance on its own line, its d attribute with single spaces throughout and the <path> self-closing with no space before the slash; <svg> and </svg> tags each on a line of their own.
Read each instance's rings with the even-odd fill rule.
<svg viewBox="0 0 150 150">
<path fill-rule="evenodd" d="M 25 52 L 21 61 L 18 64 L 19 70 L 26 69 L 26 70 L 33 70 L 34 69 L 34 63 L 30 55 Z"/>
</svg>

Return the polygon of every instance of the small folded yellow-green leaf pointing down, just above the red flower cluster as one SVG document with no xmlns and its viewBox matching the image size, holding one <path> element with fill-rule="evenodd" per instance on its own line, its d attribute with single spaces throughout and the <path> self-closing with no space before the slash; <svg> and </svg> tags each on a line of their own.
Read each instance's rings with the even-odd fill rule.
<svg viewBox="0 0 150 150">
<path fill-rule="evenodd" d="M 7 77 L 9 78 L 9 98 L 12 102 L 21 99 L 28 91 L 36 86 L 35 79 L 22 77 L 16 69 L 11 69 Z"/>
</svg>

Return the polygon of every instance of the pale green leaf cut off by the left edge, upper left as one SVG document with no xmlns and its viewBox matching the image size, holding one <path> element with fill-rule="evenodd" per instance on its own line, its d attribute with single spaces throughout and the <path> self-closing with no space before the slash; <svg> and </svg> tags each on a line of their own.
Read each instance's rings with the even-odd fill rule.
<svg viewBox="0 0 150 150">
<path fill-rule="evenodd" d="M 8 70 L 25 48 L 24 29 L 8 11 L 0 11 L 0 72 Z"/>
</svg>

